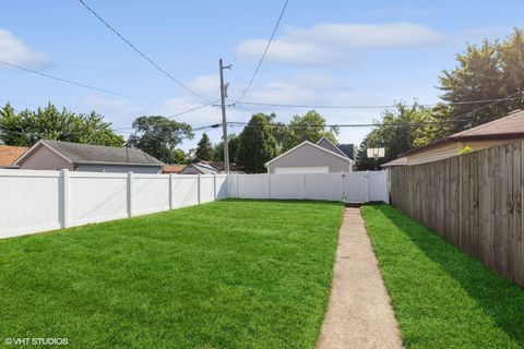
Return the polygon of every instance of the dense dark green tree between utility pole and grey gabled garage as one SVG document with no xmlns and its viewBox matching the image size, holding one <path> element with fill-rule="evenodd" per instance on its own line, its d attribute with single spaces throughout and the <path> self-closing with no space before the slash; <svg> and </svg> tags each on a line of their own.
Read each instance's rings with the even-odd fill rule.
<svg viewBox="0 0 524 349">
<path fill-rule="evenodd" d="M 257 113 L 240 133 L 237 161 L 247 172 L 265 172 L 264 164 L 278 154 L 271 121 L 271 116 Z"/>
</svg>

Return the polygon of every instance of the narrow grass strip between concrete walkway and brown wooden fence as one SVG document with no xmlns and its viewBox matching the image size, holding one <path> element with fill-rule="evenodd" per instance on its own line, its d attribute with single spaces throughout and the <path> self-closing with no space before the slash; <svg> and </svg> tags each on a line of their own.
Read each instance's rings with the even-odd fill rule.
<svg viewBox="0 0 524 349">
<path fill-rule="evenodd" d="M 362 213 L 407 348 L 524 348 L 524 290 L 392 206 Z"/>
</svg>

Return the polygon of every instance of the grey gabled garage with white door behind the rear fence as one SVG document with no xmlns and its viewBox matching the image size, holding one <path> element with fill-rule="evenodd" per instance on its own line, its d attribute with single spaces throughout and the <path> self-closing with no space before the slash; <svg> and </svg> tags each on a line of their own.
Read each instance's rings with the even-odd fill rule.
<svg viewBox="0 0 524 349">
<path fill-rule="evenodd" d="M 354 160 L 330 140 L 305 141 L 267 161 L 267 173 L 326 173 L 353 170 Z"/>
</svg>

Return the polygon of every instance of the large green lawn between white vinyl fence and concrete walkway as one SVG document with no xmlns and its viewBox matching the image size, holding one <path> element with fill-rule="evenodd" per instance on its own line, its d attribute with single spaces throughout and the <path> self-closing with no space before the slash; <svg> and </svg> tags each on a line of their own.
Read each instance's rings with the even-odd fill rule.
<svg viewBox="0 0 524 349">
<path fill-rule="evenodd" d="M 224 201 L 0 241 L 0 346 L 314 348 L 342 212 Z"/>
</svg>

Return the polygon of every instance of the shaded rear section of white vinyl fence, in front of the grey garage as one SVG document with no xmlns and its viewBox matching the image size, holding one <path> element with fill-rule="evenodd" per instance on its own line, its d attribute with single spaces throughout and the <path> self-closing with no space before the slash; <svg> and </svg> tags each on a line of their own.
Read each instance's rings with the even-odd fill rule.
<svg viewBox="0 0 524 349">
<path fill-rule="evenodd" d="M 229 197 L 390 202 L 389 171 L 229 174 Z"/>
</svg>

